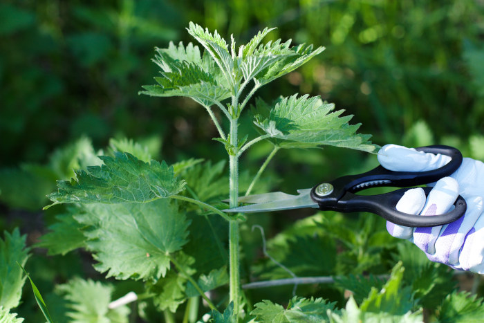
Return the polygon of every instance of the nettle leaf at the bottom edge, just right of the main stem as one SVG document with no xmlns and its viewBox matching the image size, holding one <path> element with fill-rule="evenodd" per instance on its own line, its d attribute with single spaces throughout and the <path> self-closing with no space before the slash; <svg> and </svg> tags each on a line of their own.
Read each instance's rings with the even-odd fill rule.
<svg viewBox="0 0 484 323">
<path fill-rule="evenodd" d="M 322 298 L 310 299 L 292 297 L 288 307 L 283 308 L 269 300 L 255 304 L 250 315 L 256 316 L 256 322 L 261 323 L 289 323 L 289 322 L 327 322 L 326 311 L 333 310 L 336 302 L 329 303 Z"/>
</svg>

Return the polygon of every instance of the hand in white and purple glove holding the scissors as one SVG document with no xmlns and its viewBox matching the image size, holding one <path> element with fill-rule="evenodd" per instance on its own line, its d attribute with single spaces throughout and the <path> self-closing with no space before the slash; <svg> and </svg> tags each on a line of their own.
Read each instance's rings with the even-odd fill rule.
<svg viewBox="0 0 484 323">
<path fill-rule="evenodd" d="M 378 151 L 380 164 L 396 172 L 425 172 L 447 164 L 451 158 L 386 145 Z M 397 210 L 409 214 L 443 214 L 463 196 L 467 211 L 460 219 L 432 228 L 409 228 L 387 221 L 387 230 L 400 239 L 408 239 L 425 252 L 431 261 L 460 270 L 484 273 L 484 163 L 464 158 L 450 177 L 431 184 L 428 198 L 421 188 L 410 189 L 398 202 Z"/>
</svg>

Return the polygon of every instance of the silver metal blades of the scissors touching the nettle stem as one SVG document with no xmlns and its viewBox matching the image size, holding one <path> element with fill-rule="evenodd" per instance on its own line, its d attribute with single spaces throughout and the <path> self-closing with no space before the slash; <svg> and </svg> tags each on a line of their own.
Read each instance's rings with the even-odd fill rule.
<svg viewBox="0 0 484 323">
<path fill-rule="evenodd" d="M 263 196 L 260 199 L 261 203 L 234 207 L 232 209 L 223 210 L 223 212 L 253 213 L 253 212 L 270 212 L 270 211 L 277 211 L 277 210 L 292 210 L 292 209 L 300 209 L 303 207 L 315 207 L 315 208 L 319 207 L 319 205 L 317 205 L 317 203 L 315 203 L 315 201 L 311 199 L 310 188 L 305 190 L 298 190 L 297 192 L 299 192 L 299 195 L 291 195 L 291 194 L 286 194 L 281 192 L 275 192 L 275 193 L 281 193 L 284 195 L 281 195 L 281 194 L 273 195 L 276 198 L 279 197 L 279 199 L 274 201 L 264 201 L 263 199 L 266 199 L 267 196 Z M 266 194 L 271 194 L 271 193 L 266 193 Z M 261 194 L 261 195 L 265 195 L 265 194 Z M 244 203 L 251 203 L 251 202 L 244 202 Z"/>
</svg>

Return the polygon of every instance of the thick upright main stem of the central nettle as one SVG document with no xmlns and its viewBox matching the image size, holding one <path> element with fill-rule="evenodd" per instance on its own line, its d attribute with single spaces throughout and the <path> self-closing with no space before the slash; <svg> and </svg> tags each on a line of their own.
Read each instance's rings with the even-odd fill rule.
<svg viewBox="0 0 484 323">
<path fill-rule="evenodd" d="M 232 100 L 234 101 L 234 100 Z M 235 100 L 236 101 L 236 100 Z M 237 104 L 237 102 L 232 102 Z M 230 141 L 237 147 L 237 119 L 230 120 Z M 239 156 L 237 152 L 231 154 L 230 161 L 230 207 L 237 207 L 239 197 Z M 234 315 L 239 317 L 239 292 L 240 292 L 240 273 L 239 273 L 239 222 L 230 221 L 229 224 L 229 270 L 230 270 L 230 302 L 234 302 Z"/>
</svg>

